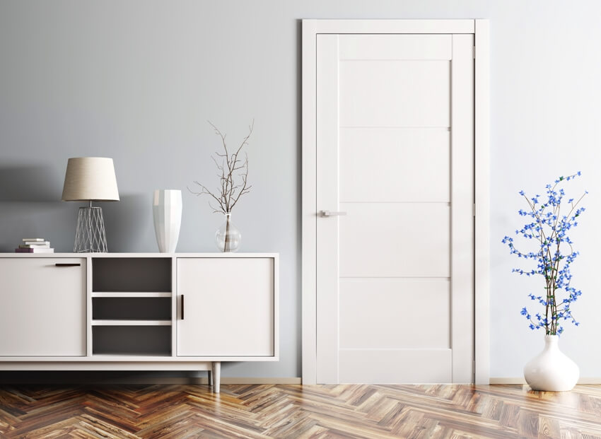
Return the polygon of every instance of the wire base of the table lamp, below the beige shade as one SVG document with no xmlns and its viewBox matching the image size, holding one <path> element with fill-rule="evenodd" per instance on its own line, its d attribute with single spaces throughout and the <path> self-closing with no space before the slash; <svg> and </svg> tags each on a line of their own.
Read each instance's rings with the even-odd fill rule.
<svg viewBox="0 0 601 439">
<path fill-rule="evenodd" d="M 101 207 L 80 207 L 77 214 L 74 253 L 106 253 L 107 236 L 103 209 Z"/>
</svg>

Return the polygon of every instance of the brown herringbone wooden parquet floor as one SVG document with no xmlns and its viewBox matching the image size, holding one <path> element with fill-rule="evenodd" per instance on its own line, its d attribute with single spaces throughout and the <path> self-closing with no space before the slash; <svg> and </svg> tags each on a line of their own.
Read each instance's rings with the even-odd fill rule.
<svg viewBox="0 0 601 439">
<path fill-rule="evenodd" d="M 0 387 L 1 438 L 601 438 L 601 386 Z"/>
</svg>

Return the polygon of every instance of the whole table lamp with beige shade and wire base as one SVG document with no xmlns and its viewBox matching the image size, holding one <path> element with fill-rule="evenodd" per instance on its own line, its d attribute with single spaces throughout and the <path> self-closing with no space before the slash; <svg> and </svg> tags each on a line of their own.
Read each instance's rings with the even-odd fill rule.
<svg viewBox="0 0 601 439">
<path fill-rule="evenodd" d="M 112 158 L 75 157 L 66 165 L 62 201 L 88 201 L 80 207 L 73 251 L 107 252 L 103 209 L 92 201 L 119 201 L 117 178 Z"/>
</svg>

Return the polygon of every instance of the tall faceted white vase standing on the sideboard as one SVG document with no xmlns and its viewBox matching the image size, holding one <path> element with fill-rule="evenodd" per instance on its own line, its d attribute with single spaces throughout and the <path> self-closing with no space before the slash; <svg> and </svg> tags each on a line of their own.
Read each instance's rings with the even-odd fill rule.
<svg viewBox="0 0 601 439">
<path fill-rule="evenodd" d="M 180 238 L 182 224 L 182 191 L 179 189 L 156 189 L 152 213 L 158 250 L 174 253 Z"/>
</svg>

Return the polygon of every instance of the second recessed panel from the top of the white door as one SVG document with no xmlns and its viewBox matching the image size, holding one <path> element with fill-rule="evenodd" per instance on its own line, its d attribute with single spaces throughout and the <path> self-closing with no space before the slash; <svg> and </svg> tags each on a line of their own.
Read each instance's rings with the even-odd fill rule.
<svg viewBox="0 0 601 439">
<path fill-rule="evenodd" d="M 448 128 L 341 128 L 339 134 L 341 202 L 450 201 Z"/>
</svg>

